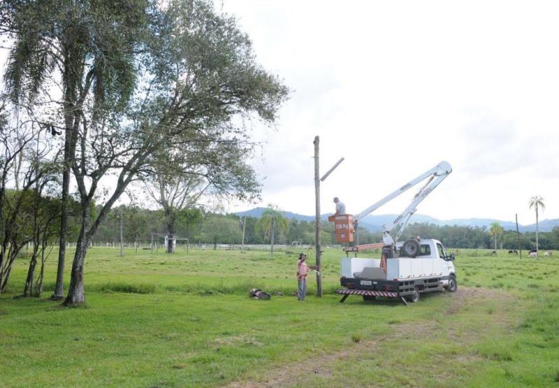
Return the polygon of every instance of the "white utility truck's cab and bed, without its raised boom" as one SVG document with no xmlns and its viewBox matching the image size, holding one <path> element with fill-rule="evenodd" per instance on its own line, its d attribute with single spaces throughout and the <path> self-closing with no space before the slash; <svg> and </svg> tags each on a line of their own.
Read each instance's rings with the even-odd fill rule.
<svg viewBox="0 0 559 388">
<path fill-rule="evenodd" d="M 419 250 L 415 257 L 393 257 L 386 259 L 386 271 L 381 268 L 382 259 L 343 257 L 338 290 L 342 300 L 349 295 L 363 296 L 365 301 L 377 296 L 419 301 L 422 292 L 456 292 L 456 269 L 454 254 L 447 254 L 439 240 L 423 238 L 417 240 Z M 403 243 L 395 244 L 395 256 L 405 254 Z"/>
</svg>

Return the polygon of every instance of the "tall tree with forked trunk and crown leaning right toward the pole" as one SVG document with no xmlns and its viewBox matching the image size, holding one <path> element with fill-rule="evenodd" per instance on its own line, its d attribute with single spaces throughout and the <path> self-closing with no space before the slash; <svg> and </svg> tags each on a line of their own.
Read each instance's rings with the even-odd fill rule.
<svg viewBox="0 0 559 388">
<path fill-rule="evenodd" d="M 126 114 L 82 112 L 89 120 L 76 132 L 72 166 L 82 214 L 66 305 L 85 301 L 89 242 L 126 187 L 150 174 L 154 155 L 161 150 L 189 155 L 190 171 L 203 171 L 210 180 L 246 180 L 240 173 L 245 166 L 227 159 L 235 152 L 252 155 L 254 144 L 242 118 L 274 122 L 288 92 L 256 64 L 235 20 L 217 15 L 212 3 L 175 0 L 165 6 L 137 57 L 141 82 Z M 116 175 L 115 185 L 92 217 L 92 201 L 109 173 Z"/>
</svg>

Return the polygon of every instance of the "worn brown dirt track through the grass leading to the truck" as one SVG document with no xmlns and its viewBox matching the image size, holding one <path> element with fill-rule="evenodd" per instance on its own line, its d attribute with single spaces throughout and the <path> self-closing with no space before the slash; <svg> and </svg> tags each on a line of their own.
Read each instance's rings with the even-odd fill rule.
<svg viewBox="0 0 559 388">
<path fill-rule="evenodd" d="M 351 359 L 358 360 L 358 357 L 368 357 L 372 354 L 382 354 L 382 352 L 393 352 L 393 343 L 398 341 L 407 341 L 412 338 L 425 338 L 425 340 L 437 340 L 442 337 L 444 340 L 456 343 L 461 347 L 469 347 L 479 340 L 481 336 L 489 333 L 495 326 L 499 326 L 500 330 L 514 329 L 518 317 L 514 315 L 506 315 L 507 311 L 503 308 L 497 308 L 498 314 L 492 320 L 493 326 L 484 324 L 475 324 L 470 322 L 469 330 L 455 333 L 449 323 L 441 323 L 441 320 L 453 319 L 463 312 L 463 309 L 469 310 L 482 306 L 487 308 L 487 303 L 497 303 L 498 306 L 512 306 L 514 296 L 498 289 L 481 289 L 481 288 L 465 288 L 460 287 L 458 292 L 452 296 L 452 301 L 447 310 L 440 312 L 441 319 L 424 320 L 421 322 L 413 322 L 411 324 L 394 324 L 393 331 L 384 336 L 379 336 L 372 340 L 357 340 L 351 345 L 337 350 L 334 353 L 321 353 L 317 357 L 307 358 L 296 363 L 286 364 L 266 371 L 262 378 L 257 380 L 238 380 L 231 382 L 226 387 L 229 388 L 261 388 L 261 387 L 291 387 L 291 386 L 309 386 L 317 385 L 313 380 L 319 378 L 319 381 L 328 385 L 331 382 L 333 386 L 344 385 L 343 375 L 337 369 L 340 368 L 340 362 L 347 363 Z M 421 303 L 421 301 L 419 302 Z M 413 308 L 413 306 L 409 306 Z M 489 308 L 491 309 L 491 307 Z M 488 311 L 493 315 L 494 312 Z M 502 316 L 504 315 L 504 316 Z M 359 356 L 357 356 L 359 355 Z M 453 354 L 451 359 L 433 354 L 433 363 L 460 363 L 469 364 L 479 361 L 481 357 L 472 352 L 464 352 L 462 354 Z M 412 371 L 413 372 L 413 371 Z M 442 372 L 437 376 L 437 380 L 441 382 L 453 378 L 448 373 Z M 392 384 L 398 385 L 414 385 L 396 378 Z M 374 387 L 374 383 L 363 381 L 363 386 Z M 382 385 L 379 385 L 382 386 Z"/>
</svg>

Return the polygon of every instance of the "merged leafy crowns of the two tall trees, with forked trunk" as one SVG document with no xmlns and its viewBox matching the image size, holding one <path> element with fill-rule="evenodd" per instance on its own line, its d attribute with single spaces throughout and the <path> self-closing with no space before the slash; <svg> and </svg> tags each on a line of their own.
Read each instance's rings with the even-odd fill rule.
<svg viewBox="0 0 559 388">
<path fill-rule="evenodd" d="M 14 40 L 8 95 L 39 127 L 64 130 L 62 202 L 70 172 L 78 189 L 80 231 L 66 304 L 85 301 L 87 247 L 136 180 L 157 182 L 159 169 L 168 185 L 180 161 L 182 180 L 242 200 L 258 195 L 247 124 L 273 123 L 289 89 L 256 62 L 249 37 L 211 1 L 6 0 L 0 15 L 1 31 Z M 162 170 L 165 158 L 173 163 Z M 103 187 L 110 175 L 115 185 Z M 63 206 L 61 257 L 65 212 Z"/>
</svg>

